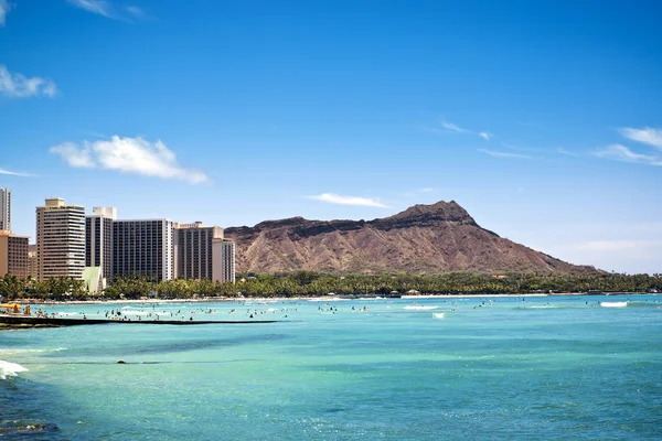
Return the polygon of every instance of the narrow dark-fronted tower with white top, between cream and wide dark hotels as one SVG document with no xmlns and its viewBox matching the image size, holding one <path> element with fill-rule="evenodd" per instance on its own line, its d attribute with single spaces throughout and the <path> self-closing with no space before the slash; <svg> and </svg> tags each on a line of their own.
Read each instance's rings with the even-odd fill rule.
<svg viewBox="0 0 662 441">
<path fill-rule="evenodd" d="M 113 222 L 117 208 L 94 207 L 85 217 L 85 266 L 98 267 L 102 277 L 113 276 Z"/>
</svg>

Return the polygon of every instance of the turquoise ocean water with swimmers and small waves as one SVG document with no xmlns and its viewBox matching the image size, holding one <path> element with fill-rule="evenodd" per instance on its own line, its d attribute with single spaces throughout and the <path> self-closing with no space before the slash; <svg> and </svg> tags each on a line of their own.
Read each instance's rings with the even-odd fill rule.
<svg viewBox="0 0 662 441">
<path fill-rule="evenodd" d="M 662 295 L 45 309 L 279 322 L 0 331 L 2 439 L 662 439 Z"/>
</svg>

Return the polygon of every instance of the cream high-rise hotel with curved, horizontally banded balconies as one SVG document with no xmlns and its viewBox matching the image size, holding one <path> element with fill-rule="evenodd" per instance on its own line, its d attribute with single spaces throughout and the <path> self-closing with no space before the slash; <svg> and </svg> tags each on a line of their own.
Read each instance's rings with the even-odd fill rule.
<svg viewBox="0 0 662 441">
<path fill-rule="evenodd" d="M 49 198 L 36 207 L 38 278 L 73 277 L 85 270 L 85 208 Z"/>
</svg>

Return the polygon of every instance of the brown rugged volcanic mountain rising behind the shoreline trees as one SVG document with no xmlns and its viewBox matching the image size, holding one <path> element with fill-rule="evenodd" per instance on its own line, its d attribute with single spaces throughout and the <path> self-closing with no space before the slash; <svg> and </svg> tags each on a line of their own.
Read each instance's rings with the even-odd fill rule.
<svg viewBox="0 0 662 441">
<path fill-rule="evenodd" d="M 481 228 L 455 201 L 374 220 L 291 217 L 231 227 L 237 271 L 591 272 Z"/>
</svg>

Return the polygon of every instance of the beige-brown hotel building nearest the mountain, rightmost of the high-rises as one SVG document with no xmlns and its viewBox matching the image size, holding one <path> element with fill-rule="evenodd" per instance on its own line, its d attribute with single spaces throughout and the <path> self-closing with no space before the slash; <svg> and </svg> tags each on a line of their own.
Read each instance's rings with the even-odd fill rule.
<svg viewBox="0 0 662 441">
<path fill-rule="evenodd" d="M 234 243 L 223 238 L 223 228 L 175 224 L 174 235 L 178 278 L 235 281 Z"/>
</svg>

